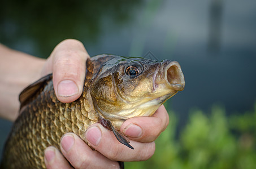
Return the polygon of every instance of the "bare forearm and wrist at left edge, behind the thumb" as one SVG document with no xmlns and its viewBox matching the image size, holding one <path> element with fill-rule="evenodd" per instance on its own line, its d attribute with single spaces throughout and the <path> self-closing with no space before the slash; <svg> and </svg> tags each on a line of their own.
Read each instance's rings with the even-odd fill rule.
<svg viewBox="0 0 256 169">
<path fill-rule="evenodd" d="M 0 117 L 14 121 L 19 94 L 41 77 L 45 59 L 11 50 L 0 44 Z"/>
</svg>

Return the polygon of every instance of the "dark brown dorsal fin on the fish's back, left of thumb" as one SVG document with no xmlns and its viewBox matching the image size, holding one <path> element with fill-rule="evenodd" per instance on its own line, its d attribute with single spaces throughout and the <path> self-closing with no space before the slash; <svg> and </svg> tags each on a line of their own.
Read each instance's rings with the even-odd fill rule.
<svg viewBox="0 0 256 169">
<path fill-rule="evenodd" d="M 41 89 L 42 86 L 45 85 L 47 81 L 49 81 L 51 78 L 53 78 L 53 74 L 48 74 L 42 78 L 40 78 L 38 81 L 30 84 L 28 87 L 26 87 L 19 95 L 20 100 L 20 112 L 21 109 L 29 103 L 31 98 Z"/>
</svg>

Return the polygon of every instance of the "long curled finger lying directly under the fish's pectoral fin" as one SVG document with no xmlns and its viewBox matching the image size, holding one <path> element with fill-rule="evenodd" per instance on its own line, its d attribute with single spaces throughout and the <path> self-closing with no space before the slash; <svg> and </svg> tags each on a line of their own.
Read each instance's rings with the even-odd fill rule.
<svg viewBox="0 0 256 169">
<path fill-rule="evenodd" d="M 155 152 L 155 143 L 130 140 L 134 149 L 119 143 L 110 130 L 96 123 L 88 128 L 85 137 L 94 149 L 113 161 L 145 161 Z"/>
</svg>

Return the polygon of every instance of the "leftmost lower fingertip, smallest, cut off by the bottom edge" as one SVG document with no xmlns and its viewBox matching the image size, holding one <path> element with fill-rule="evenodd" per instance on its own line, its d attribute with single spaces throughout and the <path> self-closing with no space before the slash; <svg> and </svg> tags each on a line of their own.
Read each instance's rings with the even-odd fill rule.
<svg viewBox="0 0 256 169">
<path fill-rule="evenodd" d="M 63 168 L 63 169 L 71 169 L 73 167 L 70 166 L 68 161 L 63 157 L 63 155 L 59 152 L 57 148 L 54 146 L 49 146 L 45 150 L 45 164 L 48 169 L 54 168 Z"/>
</svg>

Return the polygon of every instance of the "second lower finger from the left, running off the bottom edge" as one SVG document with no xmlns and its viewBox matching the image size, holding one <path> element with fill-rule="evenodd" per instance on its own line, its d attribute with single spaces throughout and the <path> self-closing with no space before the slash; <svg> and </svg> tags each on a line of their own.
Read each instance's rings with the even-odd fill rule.
<svg viewBox="0 0 256 169">
<path fill-rule="evenodd" d="M 60 145 L 62 154 L 75 168 L 119 168 L 118 162 L 111 161 L 96 150 L 92 150 L 73 133 L 63 135 Z"/>
</svg>

